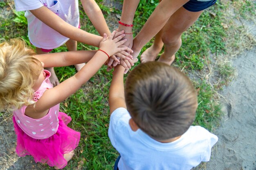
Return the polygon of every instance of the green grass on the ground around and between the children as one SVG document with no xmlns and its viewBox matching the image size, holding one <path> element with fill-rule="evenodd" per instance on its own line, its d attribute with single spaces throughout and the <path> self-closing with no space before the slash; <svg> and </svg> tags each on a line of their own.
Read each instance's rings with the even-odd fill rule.
<svg viewBox="0 0 256 170">
<path fill-rule="evenodd" d="M 97 0 L 108 23 L 117 26 L 116 16 L 121 15 L 121 11 L 104 2 Z M 11 2 L 6 0 L 0 2 L 0 9 L 4 9 L 8 14 L 8 17 L 0 17 L 1 38 L 22 37 L 27 44 L 30 44 L 24 12 L 12 11 L 9 5 L 13 7 L 13 4 L 9 3 Z M 217 60 L 213 57 L 229 54 L 228 46 L 234 49 L 240 47 L 240 39 L 233 35 L 233 41 L 230 41 L 231 36 L 228 32 L 234 29 L 238 30 L 237 34 L 239 34 L 242 29 L 227 20 L 225 11 L 229 5 L 233 5 L 239 9 L 235 16 L 246 18 L 248 15 L 255 14 L 256 6 L 253 3 L 248 0 L 245 3 L 243 0 L 228 3 L 217 1 L 216 5 L 204 11 L 199 20 L 182 35 L 182 47 L 177 52 L 173 65 L 190 75 L 197 89 L 198 110 L 194 125 L 200 125 L 209 130 L 216 128 L 221 114 L 216 91 L 226 85 L 230 81 L 229 77 L 234 75 L 234 69 L 230 63 L 218 62 L 215 64 Z M 141 0 L 135 13 L 134 35 L 139 32 L 157 4 L 158 0 Z M 80 18 L 81 29 L 98 34 L 82 8 L 80 9 Z M 113 29 L 110 28 L 110 30 Z M 142 51 L 148 48 L 152 41 L 148 42 Z M 77 49 L 95 48 L 78 43 Z M 67 51 L 67 49 L 65 46 L 61 46 L 54 49 L 53 52 L 60 51 Z M 211 69 L 211 66 L 216 69 Z M 55 68 L 55 71 L 61 82 L 76 73 L 73 66 Z M 216 72 L 221 77 L 218 79 L 218 83 L 209 83 L 208 75 L 211 75 L 211 72 Z M 61 103 L 61 111 L 72 117 L 70 127 L 81 132 L 81 141 L 76 149 L 76 155 L 64 170 L 112 170 L 118 153 L 108 139 L 108 89 L 111 77 L 111 72 L 107 72 L 106 66 L 103 66 L 87 84 Z M 52 169 L 42 164 L 38 164 L 37 168 Z"/>
</svg>

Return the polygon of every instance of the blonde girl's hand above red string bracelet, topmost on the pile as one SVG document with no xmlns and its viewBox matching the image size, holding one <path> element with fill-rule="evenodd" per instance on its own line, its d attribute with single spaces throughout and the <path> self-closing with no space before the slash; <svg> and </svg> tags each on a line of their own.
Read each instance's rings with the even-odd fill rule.
<svg viewBox="0 0 256 170">
<path fill-rule="evenodd" d="M 121 40 L 124 38 L 125 34 L 121 34 L 117 38 L 113 39 L 116 32 L 117 31 L 113 31 L 109 37 L 107 37 L 107 34 L 104 33 L 103 39 L 99 44 L 99 49 L 105 51 L 109 56 L 112 56 L 119 51 L 125 51 L 127 49 L 126 46 L 119 47 L 126 42 L 126 39 Z"/>
</svg>

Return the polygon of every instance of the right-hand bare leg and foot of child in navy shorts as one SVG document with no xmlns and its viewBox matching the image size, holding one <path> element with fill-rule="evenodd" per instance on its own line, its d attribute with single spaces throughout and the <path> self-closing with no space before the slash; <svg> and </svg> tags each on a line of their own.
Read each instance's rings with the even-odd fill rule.
<svg viewBox="0 0 256 170">
<path fill-rule="evenodd" d="M 172 64 L 175 59 L 175 53 L 180 49 L 182 44 L 181 35 L 186 31 L 201 15 L 202 11 L 190 12 L 180 7 L 169 18 L 165 24 L 162 41 L 164 42 L 164 53 L 160 56 L 159 62 Z"/>
</svg>

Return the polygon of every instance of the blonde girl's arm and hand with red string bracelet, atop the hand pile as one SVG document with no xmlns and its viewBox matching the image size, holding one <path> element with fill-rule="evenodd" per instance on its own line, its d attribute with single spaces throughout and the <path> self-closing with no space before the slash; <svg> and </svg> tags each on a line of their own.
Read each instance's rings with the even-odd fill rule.
<svg viewBox="0 0 256 170">
<path fill-rule="evenodd" d="M 119 47 L 121 44 L 126 42 L 126 39 L 121 40 L 125 35 L 122 34 L 113 39 L 115 33 L 116 31 L 113 31 L 108 38 L 105 34 L 100 44 L 100 49 L 105 51 L 108 55 L 113 55 L 114 53 L 126 50 L 127 48 Z M 108 59 L 108 55 L 103 51 L 97 51 L 94 57 L 92 57 L 92 59 L 74 76 L 66 79 L 64 82 L 55 86 L 54 88 L 45 91 L 43 96 L 38 99 L 38 102 L 36 102 L 34 112 L 42 113 L 75 93 L 99 70 L 99 68 L 101 68 L 104 62 Z"/>
</svg>

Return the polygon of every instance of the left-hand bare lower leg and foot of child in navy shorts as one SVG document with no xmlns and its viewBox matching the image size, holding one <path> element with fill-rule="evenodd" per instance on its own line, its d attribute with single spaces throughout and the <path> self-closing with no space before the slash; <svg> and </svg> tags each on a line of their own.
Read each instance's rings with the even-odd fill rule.
<svg viewBox="0 0 256 170">
<path fill-rule="evenodd" d="M 164 43 L 162 41 L 162 33 L 163 29 L 161 29 L 157 35 L 155 35 L 154 43 L 146 49 L 140 56 L 141 63 L 155 61 L 157 55 L 162 50 L 162 47 L 164 46 Z"/>
</svg>

